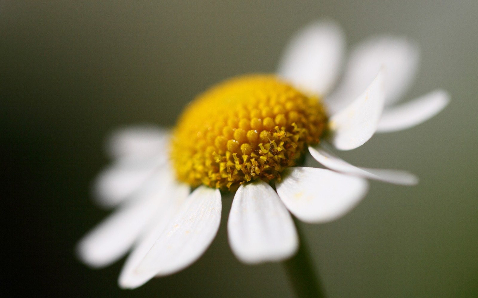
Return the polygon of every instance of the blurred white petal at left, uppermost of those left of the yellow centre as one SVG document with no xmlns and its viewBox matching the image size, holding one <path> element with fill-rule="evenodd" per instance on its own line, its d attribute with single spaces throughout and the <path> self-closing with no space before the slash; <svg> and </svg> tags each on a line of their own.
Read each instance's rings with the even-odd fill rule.
<svg viewBox="0 0 478 298">
<path fill-rule="evenodd" d="M 145 158 L 158 152 L 166 155 L 169 142 L 167 130 L 148 125 L 118 129 L 107 142 L 107 151 L 113 158 Z"/>
</svg>

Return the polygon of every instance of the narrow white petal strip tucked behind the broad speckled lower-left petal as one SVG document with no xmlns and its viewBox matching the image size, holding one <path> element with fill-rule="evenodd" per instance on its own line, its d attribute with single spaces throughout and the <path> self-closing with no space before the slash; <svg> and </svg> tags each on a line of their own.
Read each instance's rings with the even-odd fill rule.
<svg viewBox="0 0 478 298">
<path fill-rule="evenodd" d="M 189 189 L 178 188 L 176 191 L 168 193 L 170 200 L 165 200 L 163 206 L 153 216 L 153 222 L 147 231 L 141 236 L 136 247 L 126 259 L 121 269 L 118 283 L 121 288 L 136 288 L 141 286 L 147 280 L 143 276 L 136 274 L 135 269 L 143 260 L 154 245 L 159 236 L 163 234 L 164 229 L 168 226 L 171 219 L 177 214 L 180 206 L 183 205 L 186 197 L 189 195 Z"/>
</svg>

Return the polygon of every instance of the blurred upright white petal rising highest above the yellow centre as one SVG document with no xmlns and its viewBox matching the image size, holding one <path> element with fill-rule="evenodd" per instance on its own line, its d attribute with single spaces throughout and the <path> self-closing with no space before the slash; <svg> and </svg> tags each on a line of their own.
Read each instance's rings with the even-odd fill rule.
<svg viewBox="0 0 478 298">
<path fill-rule="evenodd" d="M 336 22 L 314 22 L 290 41 L 278 73 L 305 92 L 324 95 L 337 79 L 344 49 L 345 34 Z"/>
</svg>

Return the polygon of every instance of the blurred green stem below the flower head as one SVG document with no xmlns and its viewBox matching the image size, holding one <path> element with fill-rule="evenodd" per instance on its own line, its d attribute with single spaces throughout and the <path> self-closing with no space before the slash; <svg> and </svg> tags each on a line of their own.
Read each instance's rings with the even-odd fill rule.
<svg viewBox="0 0 478 298">
<path fill-rule="evenodd" d="M 293 219 L 299 236 L 299 249 L 295 256 L 285 260 L 282 264 L 287 271 L 296 297 L 325 298 L 304 241 L 304 234 L 300 230 L 298 220 L 295 217 Z"/>
</svg>

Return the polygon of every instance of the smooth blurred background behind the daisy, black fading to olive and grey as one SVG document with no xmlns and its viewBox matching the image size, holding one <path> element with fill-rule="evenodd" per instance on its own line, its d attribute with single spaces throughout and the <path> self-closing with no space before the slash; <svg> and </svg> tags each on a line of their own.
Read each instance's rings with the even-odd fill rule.
<svg viewBox="0 0 478 298">
<path fill-rule="evenodd" d="M 193 266 L 120 290 L 123 260 L 81 264 L 76 241 L 107 214 L 91 201 L 105 136 L 174 125 L 195 94 L 274 72 L 288 38 L 330 17 L 348 44 L 408 36 L 422 65 L 407 98 L 437 87 L 451 104 L 410 130 L 341 156 L 406 169 L 414 187 L 371 182 L 347 216 L 302 225 L 329 297 L 478 297 L 478 2 L 1 1 L 2 293 L 9 297 L 290 297 L 281 264 L 245 266 L 218 236 Z"/>
</svg>

